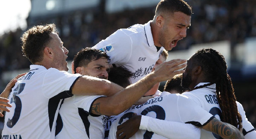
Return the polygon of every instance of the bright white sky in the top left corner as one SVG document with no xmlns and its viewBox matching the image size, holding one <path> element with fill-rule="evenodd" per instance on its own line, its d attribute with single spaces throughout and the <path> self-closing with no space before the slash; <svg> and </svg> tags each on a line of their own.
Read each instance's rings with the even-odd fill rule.
<svg viewBox="0 0 256 139">
<path fill-rule="evenodd" d="M 0 0 L 0 35 L 18 27 L 26 29 L 30 10 L 30 0 Z"/>
</svg>

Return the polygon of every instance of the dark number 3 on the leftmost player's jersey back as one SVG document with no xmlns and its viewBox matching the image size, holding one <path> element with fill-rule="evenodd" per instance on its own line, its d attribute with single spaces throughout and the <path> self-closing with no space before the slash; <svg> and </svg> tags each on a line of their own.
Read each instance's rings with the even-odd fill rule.
<svg viewBox="0 0 256 139">
<path fill-rule="evenodd" d="M 20 112 L 21 112 L 22 105 L 21 105 L 21 100 L 17 95 L 19 95 L 23 91 L 24 87 L 25 87 L 25 83 L 20 83 L 20 84 L 18 84 L 16 89 L 14 89 L 13 97 L 11 98 L 10 103 L 12 104 L 12 102 L 14 102 L 16 105 L 16 108 L 14 110 L 14 116 L 12 117 L 12 119 L 8 118 L 6 125 L 9 128 L 12 128 L 18 122 L 18 120 L 20 118 Z"/>
</svg>

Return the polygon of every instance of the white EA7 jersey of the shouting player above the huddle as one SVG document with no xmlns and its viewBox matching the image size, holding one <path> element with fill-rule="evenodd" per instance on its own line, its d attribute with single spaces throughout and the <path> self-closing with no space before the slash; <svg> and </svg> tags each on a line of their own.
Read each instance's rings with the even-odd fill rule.
<svg viewBox="0 0 256 139">
<path fill-rule="evenodd" d="M 123 66 L 131 71 L 131 82 L 135 83 L 151 72 L 164 49 L 160 47 L 157 51 L 150 23 L 151 21 L 145 25 L 136 24 L 127 29 L 118 29 L 92 48 L 106 52 L 110 56 L 110 64 Z"/>
</svg>

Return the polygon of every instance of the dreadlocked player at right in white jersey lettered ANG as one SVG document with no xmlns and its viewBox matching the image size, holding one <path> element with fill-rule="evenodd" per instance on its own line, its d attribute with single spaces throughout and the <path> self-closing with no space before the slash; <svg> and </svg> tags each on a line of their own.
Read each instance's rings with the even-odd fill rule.
<svg viewBox="0 0 256 139">
<path fill-rule="evenodd" d="M 188 60 L 182 87 L 199 106 L 217 119 L 242 130 L 246 139 L 255 139 L 256 131 L 247 120 L 242 105 L 236 101 L 233 84 L 222 54 L 212 48 L 198 50 Z M 201 130 L 201 139 L 219 139 L 214 133 Z"/>
</svg>

